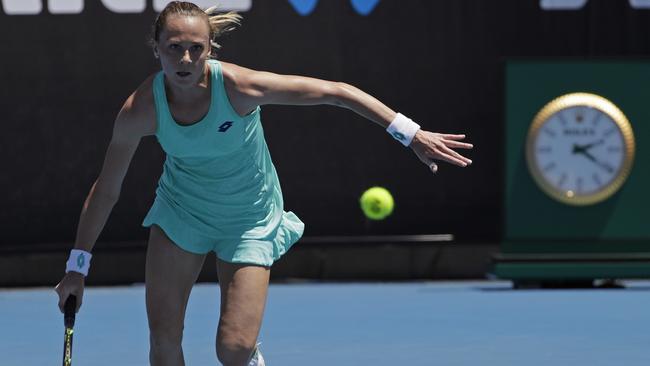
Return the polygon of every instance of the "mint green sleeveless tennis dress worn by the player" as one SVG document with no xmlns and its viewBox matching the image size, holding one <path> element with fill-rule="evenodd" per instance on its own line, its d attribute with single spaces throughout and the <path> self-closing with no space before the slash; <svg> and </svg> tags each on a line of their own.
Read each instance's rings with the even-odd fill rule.
<svg viewBox="0 0 650 366">
<path fill-rule="evenodd" d="M 230 263 L 270 266 L 300 239 L 305 226 L 283 210 L 260 108 L 239 116 L 226 95 L 221 64 L 208 63 L 210 108 L 192 125 L 174 121 L 163 72 L 154 79 L 156 137 L 167 158 L 142 225 L 160 226 L 192 253 L 214 251 Z"/>
</svg>

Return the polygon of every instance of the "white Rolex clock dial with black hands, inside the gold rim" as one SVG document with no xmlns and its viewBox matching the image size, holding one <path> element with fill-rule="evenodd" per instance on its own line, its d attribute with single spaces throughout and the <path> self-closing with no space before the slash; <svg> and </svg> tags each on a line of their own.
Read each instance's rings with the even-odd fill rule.
<svg viewBox="0 0 650 366">
<path fill-rule="evenodd" d="M 621 129 L 607 113 L 590 106 L 551 114 L 532 142 L 539 176 L 569 199 L 603 190 L 625 162 Z"/>
</svg>

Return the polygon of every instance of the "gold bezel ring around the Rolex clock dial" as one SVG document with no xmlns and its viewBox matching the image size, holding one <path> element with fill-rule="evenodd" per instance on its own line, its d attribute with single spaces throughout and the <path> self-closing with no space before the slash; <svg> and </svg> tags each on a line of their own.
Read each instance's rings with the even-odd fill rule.
<svg viewBox="0 0 650 366">
<path fill-rule="evenodd" d="M 597 192 L 579 195 L 573 191 L 558 190 L 546 181 L 539 167 L 535 164 L 535 140 L 544 123 L 555 113 L 571 107 L 585 106 L 600 110 L 607 114 L 618 126 L 623 135 L 624 154 L 623 165 L 616 174 L 616 177 Z M 569 93 L 557 97 L 546 104 L 535 115 L 528 130 L 526 140 L 526 162 L 533 180 L 551 198 L 568 205 L 585 206 L 602 202 L 616 193 L 627 180 L 634 162 L 635 144 L 634 133 L 630 121 L 625 114 L 609 100 L 591 93 Z"/>
</svg>

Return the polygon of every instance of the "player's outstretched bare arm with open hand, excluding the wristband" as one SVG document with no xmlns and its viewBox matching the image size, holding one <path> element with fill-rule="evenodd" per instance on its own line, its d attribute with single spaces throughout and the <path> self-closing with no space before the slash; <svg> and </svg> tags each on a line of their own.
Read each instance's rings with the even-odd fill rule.
<svg viewBox="0 0 650 366">
<path fill-rule="evenodd" d="M 229 96 L 238 111 L 244 113 L 259 105 L 329 104 L 348 108 L 384 128 L 396 120 L 398 113 L 364 91 L 341 82 L 309 77 L 279 75 L 222 63 Z M 403 117 L 403 116 L 402 116 Z M 471 149 L 462 142 L 465 135 L 443 134 L 418 130 L 409 147 L 435 173 L 435 160 L 465 167 L 472 161 L 454 149 Z"/>
</svg>

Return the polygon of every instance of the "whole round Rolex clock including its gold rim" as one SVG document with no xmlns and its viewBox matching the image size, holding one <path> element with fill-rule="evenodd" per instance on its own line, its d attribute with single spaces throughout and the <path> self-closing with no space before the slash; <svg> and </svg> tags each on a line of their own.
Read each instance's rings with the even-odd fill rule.
<svg viewBox="0 0 650 366">
<path fill-rule="evenodd" d="M 623 113 L 585 93 L 567 94 L 544 107 L 527 142 L 528 165 L 540 188 L 575 205 L 614 194 L 629 174 L 633 152 L 632 129 Z"/>
</svg>

